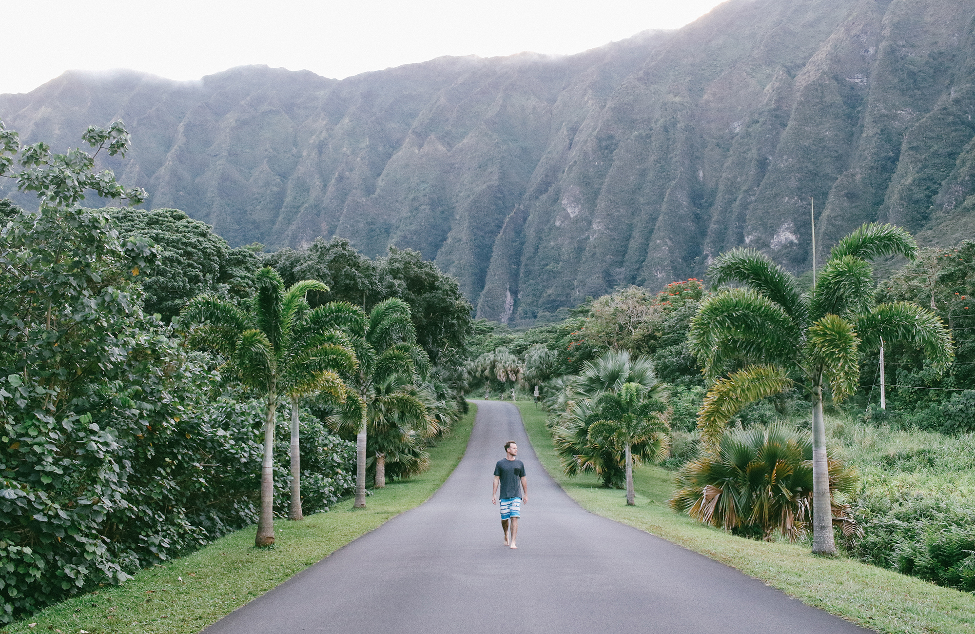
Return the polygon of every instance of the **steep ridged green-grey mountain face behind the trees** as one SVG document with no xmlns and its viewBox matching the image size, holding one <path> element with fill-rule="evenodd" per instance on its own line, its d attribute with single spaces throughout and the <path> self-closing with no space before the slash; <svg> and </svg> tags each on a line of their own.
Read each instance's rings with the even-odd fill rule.
<svg viewBox="0 0 975 634">
<path fill-rule="evenodd" d="M 416 249 L 517 323 L 739 245 L 807 270 L 810 198 L 822 250 L 870 220 L 971 237 L 973 18 L 972 0 L 731 0 L 570 57 L 68 72 L 0 96 L 0 118 L 56 149 L 121 118 L 134 149 L 105 166 L 151 207 L 232 245 Z"/>
</svg>

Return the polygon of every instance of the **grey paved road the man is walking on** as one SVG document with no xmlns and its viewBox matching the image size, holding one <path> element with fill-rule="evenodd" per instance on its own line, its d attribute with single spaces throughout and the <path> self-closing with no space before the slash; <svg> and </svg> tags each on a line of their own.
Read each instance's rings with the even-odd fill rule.
<svg viewBox="0 0 975 634">
<path fill-rule="evenodd" d="M 518 549 L 490 503 L 515 440 L 528 503 Z M 622 494 L 621 494 L 622 496 Z M 761 581 L 584 511 L 548 477 L 518 410 L 478 403 L 463 460 L 424 504 L 393 518 L 206 634 L 649 632 L 865 633 Z"/>
</svg>

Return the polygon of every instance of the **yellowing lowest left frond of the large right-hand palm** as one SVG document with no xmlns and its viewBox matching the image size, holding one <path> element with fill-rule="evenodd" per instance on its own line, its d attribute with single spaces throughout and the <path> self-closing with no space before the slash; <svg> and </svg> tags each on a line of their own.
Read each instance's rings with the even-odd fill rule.
<svg viewBox="0 0 975 634">
<path fill-rule="evenodd" d="M 786 371 L 772 365 L 749 366 L 727 378 L 719 378 L 704 396 L 704 405 L 697 413 L 697 428 L 705 444 L 716 448 L 724 425 L 743 407 L 792 386 Z"/>
</svg>

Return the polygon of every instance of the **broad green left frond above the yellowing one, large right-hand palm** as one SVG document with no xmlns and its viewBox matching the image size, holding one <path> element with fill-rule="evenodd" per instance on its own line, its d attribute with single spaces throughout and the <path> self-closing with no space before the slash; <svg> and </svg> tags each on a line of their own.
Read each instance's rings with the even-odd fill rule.
<svg viewBox="0 0 975 634">
<path fill-rule="evenodd" d="M 716 376 L 730 358 L 791 364 L 801 332 L 780 304 L 753 290 L 732 289 L 701 304 L 687 340 L 705 375 Z"/>
</svg>

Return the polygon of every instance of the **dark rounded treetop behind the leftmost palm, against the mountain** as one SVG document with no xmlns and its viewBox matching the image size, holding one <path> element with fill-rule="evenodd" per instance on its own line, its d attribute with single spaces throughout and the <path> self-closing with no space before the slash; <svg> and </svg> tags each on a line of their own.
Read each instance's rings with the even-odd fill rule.
<svg viewBox="0 0 975 634">
<path fill-rule="evenodd" d="M 118 224 L 123 239 L 145 238 L 158 252 L 157 261 L 139 278 L 147 314 L 158 313 L 169 322 L 199 295 L 226 297 L 235 303 L 254 297 L 254 274 L 260 265 L 253 248 L 231 249 L 209 224 L 177 209 L 105 211 Z"/>
</svg>

